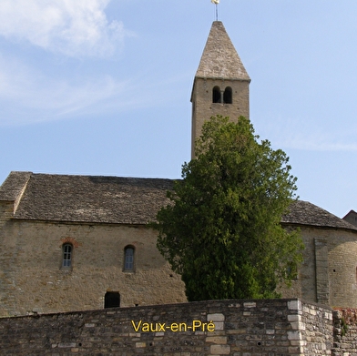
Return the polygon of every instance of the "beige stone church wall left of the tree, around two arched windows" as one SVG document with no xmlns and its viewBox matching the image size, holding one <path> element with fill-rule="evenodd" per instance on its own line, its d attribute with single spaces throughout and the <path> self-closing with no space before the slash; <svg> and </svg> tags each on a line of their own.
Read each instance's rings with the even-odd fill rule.
<svg viewBox="0 0 357 356">
<path fill-rule="evenodd" d="M 0 204 L 0 217 L 10 208 Z M 65 241 L 71 269 L 61 267 Z M 184 302 L 184 284 L 156 241 L 145 226 L 0 220 L 0 318 L 101 309 L 107 291 L 120 294 L 121 307 Z M 123 270 L 128 245 L 133 271 Z"/>
</svg>

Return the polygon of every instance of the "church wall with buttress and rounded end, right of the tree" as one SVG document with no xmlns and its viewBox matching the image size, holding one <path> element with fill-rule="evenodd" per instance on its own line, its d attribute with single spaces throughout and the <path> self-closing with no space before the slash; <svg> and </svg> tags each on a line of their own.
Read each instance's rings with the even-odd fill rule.
<svg viewBox="0 0 357 356">
<path fill-rule="evenodd" d="M 286 227 L 285 227 L 286 228 Z M 305 245 L 299 277 L 283 298 L 300 298 L 332 308 L 357 308 L 357 240 L 353 231 L 301 227 Z"/>
</svg>

